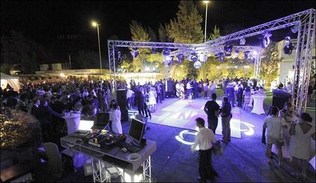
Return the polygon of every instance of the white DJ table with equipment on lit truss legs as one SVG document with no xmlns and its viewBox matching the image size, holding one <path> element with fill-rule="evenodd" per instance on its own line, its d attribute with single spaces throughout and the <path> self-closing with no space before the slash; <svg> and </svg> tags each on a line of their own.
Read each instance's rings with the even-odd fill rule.
<svg viewBox="0 0 316 183">
<path fill-rule="evenodd" d="M 133 138 L 126 135 L 126 143 Z M 137 153 L 122 151 L 118 146 L 95 147 L 87 141 L 79 141 L 75 136 L 60 138 L 61 145 L 74 153 L 91 158 L 93 182 L 111 182 L 111 175 L 121 175 L 121 182 L 147 182 L 151 180 L 150 156 L 156 151 L 156 142 L 146 141 L 146 145 Z M 114 170 L 114 171 L 113 171 Z"/>
</svg>

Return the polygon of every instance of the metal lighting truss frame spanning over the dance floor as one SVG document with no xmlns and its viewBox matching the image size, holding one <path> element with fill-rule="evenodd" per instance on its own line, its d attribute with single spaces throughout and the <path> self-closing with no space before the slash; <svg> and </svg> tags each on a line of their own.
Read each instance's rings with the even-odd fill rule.
<svg viewBox="0 0 316 183">
<path fill-rule="evenodd" d="M 115 81 L 115 47 L 139 47 L 139 48 L 170 48 L 190 52 L 192 49 L 213 49 L 216 46 L 223 46 L 229 42 L 249 38 L 252 36 L 262 36 L 267 32 L 277 29 L 295 27 L 297 29 L 297 46 L 295 55 L 295 78 L 293 83 L 292 103 L 297 112 L 304 112 L 306 109 L 307 89 L 311 74 L 311 62 L 313 51 L 313 40 L 315 38 L 315 9 L 305 10 L 297 14 L 286 16 L 282 19 L 270 21 L 262 25 L 251 27 L 234 34 L 221 36 L 199 45 L 172 43 L 172 42 L 134 42 L 123 40 L 108 40 L 110 75 Z M 213 48 L 212 48 L 213 47 Z M 260 53 L 260 52 L 259 52 Z M 255 61 L 256 78 L 260 76 L 260 54 Z M 115 82 L 116 88 L 116 82 Z"/>
</svg>

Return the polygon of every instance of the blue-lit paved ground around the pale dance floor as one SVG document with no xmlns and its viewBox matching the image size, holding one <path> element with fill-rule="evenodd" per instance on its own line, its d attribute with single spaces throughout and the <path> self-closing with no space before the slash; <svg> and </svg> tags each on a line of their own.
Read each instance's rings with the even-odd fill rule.
<svg viewBox="0 0 316 183">
<path fill-rule="evenodd" d="M 168 102 L 173 100 L 166 99 Z M 312 106 L 314 105 L 314 106 Z M 315 100 L 308 108 L 315 121 Z M 223 156 L 213 156 L 212 164 L 220 178 L 216 182 L 297 182 L 291 177 L 291 165 L 282 169 L 269 166 L 264 156 L 265 146 L 261 143 L 262 121 L 265 115 L 251 114 L 241 110 L 242 138 L 232 138 L 232 143 L 224 145 Z M 154 119 L 153 119 L 154 120 Z M 314 122 L 315 123 L 315 122 Z M 154 182 L 196 182 L 198 173 L 197 153 L 190 152 L 190 146 L 177 141 L 176 136 L 184 129 L 150 123 L 150 130 L 144 135 L 157 142 L 157 151 L 152 156 L 152 177 Z M 123 131 L 128 132 L 129 123 L 123 123 Z M 253 130 L 253 131 L 252 131 Z M 190 130 L 190 132 L 193 132 Z M 221 136 L 217 136 L 221 138 Z M 194 141 L 193 135 L 183 137 Z M 315 172 L 314 172 L 315 173 Z M 315 182 L 315 174 L 309 172 L 307 182 Z M 69 173 L 60 182 L 89 182 L 91 176 L 84 177 L 83 170 Z"/>
</svg>

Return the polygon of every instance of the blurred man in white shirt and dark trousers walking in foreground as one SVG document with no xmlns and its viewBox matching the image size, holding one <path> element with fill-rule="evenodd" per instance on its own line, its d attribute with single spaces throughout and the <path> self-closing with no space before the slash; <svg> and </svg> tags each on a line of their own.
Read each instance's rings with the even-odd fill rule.
<svg viewBox="0 0 316 183">
<path fill-rule="evenodd" d="M 195 119 L 199 132 L 196 134 L 195 142 L 191 147 L 193 152 L 199 145 L 199 182 L 206 182 L 207 179 L 214 181 L 214 176 L 218 173 L 212 167 L 212 141 L 218 141 L 213 131 L 205 127 L 205 121 L 202 118 Z"/>
</svg>

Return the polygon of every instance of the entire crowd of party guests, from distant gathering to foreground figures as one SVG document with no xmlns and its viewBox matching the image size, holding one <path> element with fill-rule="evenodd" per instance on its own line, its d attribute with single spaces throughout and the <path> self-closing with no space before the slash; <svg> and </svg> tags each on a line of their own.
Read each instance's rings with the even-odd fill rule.
<svg viewBox="0 0 316 183">
<path fill-rule="evenodd" d="M 8 106 L 34 115 L 41 123 L 43 141 L 53 141 L 52 137 L 58 136 L 59 131 L 65 132 L 63 115 L 66 111 L 78 111 L 83 119 L 93 119 L 98 112 L 109 112 L 111 130 L 122 134 L 121 112 L 117 101 L 113 99 L 115 84 L 111 80 L 79 80 L 73 78 L 64 82 L 51 82 L 43 84 L 25 84 L 19 93 L 12 88 L 0 90 L 1 107 Z M 128 84 L 125 80 L 118 80 L 117 89 L 126 90 L 127 109 L 137 108 L 139 114 L 151 119 L 151 113 L 155 112 L 157 103 L 163 103 L 166 93 L 171 92 L 182 99 L 197 99 L 204 97 L 211 100 L 205 103 L 204 111 L 207 114 L 207 128 L 203 119 L 196 119 L 199 133 L 192 146 L 192 151 L 197 145 L 199 151 L 199 173 L 201 181 L 214 178 L 218 174 L 212 168 L 211 141 L 217 141 L 215 137 L 218 126 L 218 117 L 221 117 L 223 143 L 230 143 L 232 108 L 240 107 L 247 110 L 251 103 L 251 95 L 264 95 L 262 84 L 249 78 L 223 80 L 158 80 L 155 83 L 146 82 L 139 84 L 131 80 Z M 216 88 L 222 88 L 225 96 L 222 106 L 216 103 Z M 284 90 L 282 84 L 278 87 Z M 243 105 L 242 105 L 243 101 Z M 298 123 L 297 123 L 298 121 Z M 266 129 L 267 158 L 271 160 L 271 148 L 278 148 L 278 164 L 282 166 L 283 156 L 290 158 L 297 169 L 293 172 L 297 178 L 306 179 L 306 160 L 311 149 L 310 137 L 315 139 L 315 127 L 310 125 L 312 118 L 307 113 L 298 115 L 291 110 L 291 103 L 286 103 L 284 109 L 278 110 L 271 107 L 269 117 L 264 119 Z M 282 136 L 282 138 L 281 138 Z M 282 144 L 282 141 L 283 144 Z M 283 152 L 283 154 L 282 154 Z M 205 164 L 205 160 L 207 163 Z M 299 169 L 300 168 L 300 171 Z"/>
</svg>

